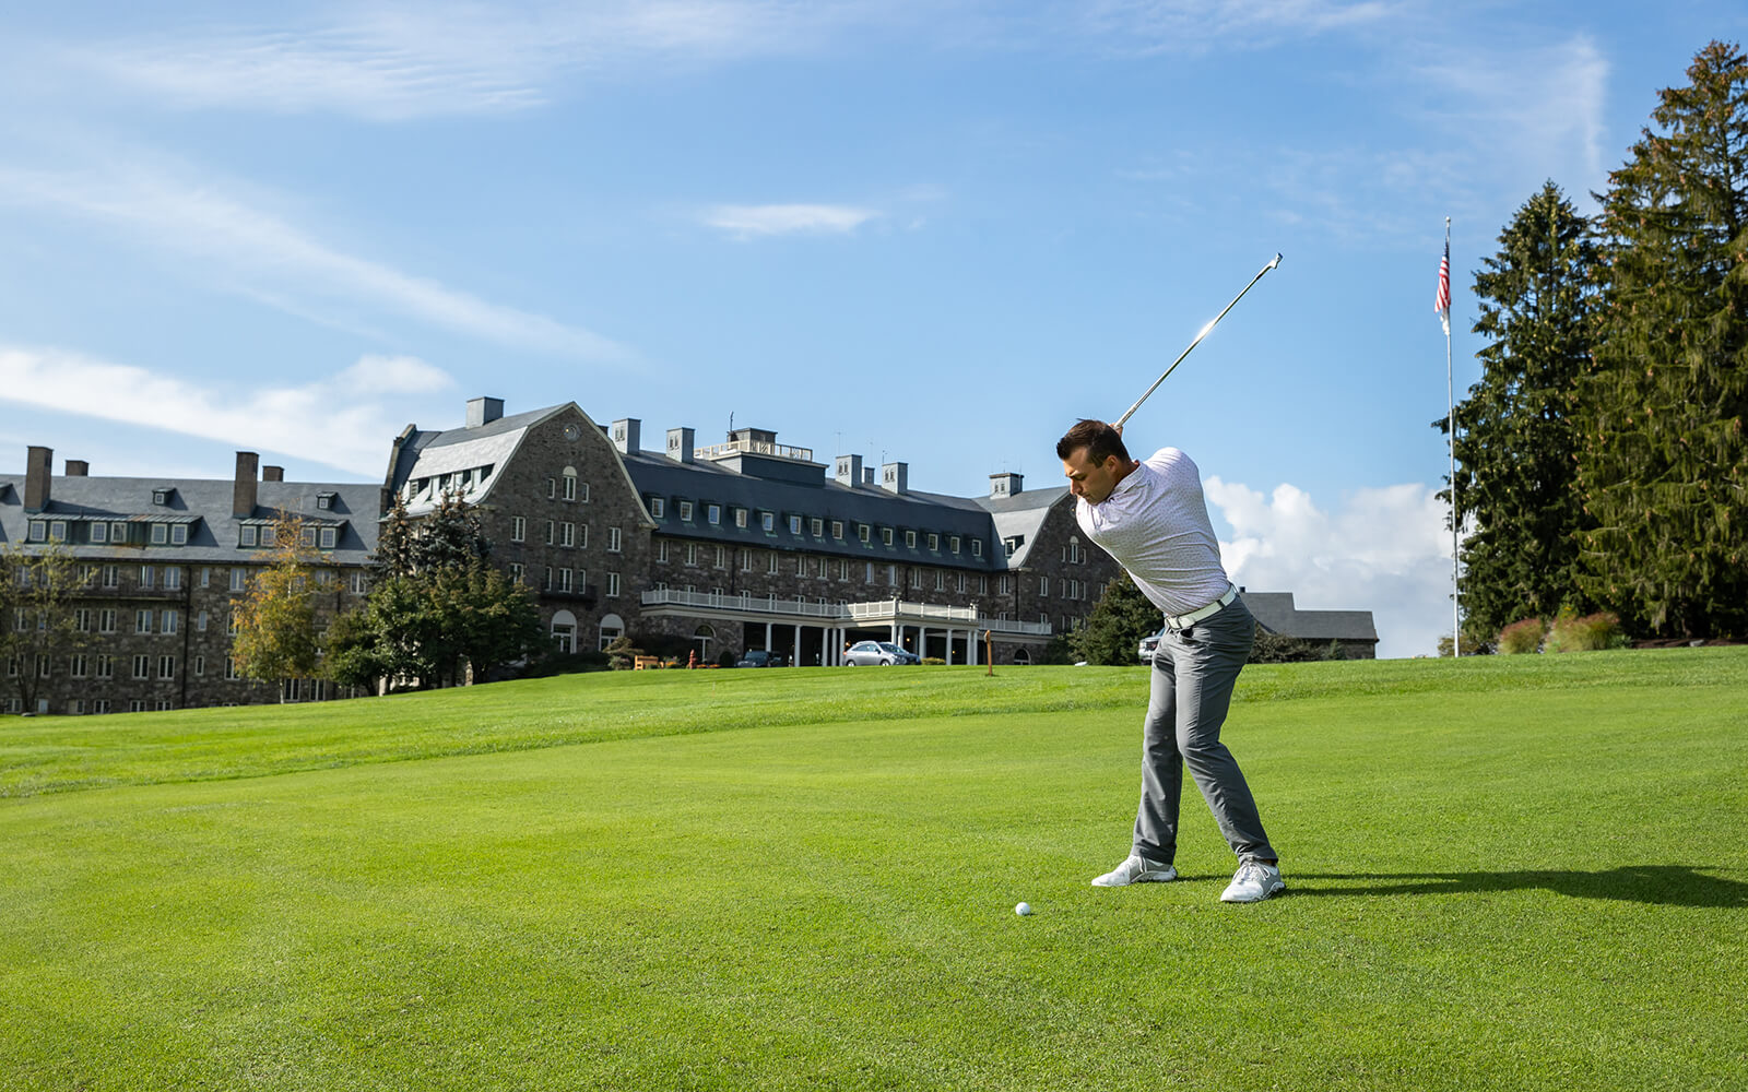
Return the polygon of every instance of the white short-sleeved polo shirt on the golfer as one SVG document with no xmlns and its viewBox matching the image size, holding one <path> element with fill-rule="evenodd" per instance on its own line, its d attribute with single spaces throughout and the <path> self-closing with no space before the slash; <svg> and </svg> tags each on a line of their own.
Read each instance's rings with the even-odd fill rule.
<svg viewBox="0 0 1748 1092">
<path fill-rule="evenodd" d="M 1201 472 L 1176 447 L 1155 451 L 1099 503 L 1075 498 L 1075 519 L 1168 615 L 1208 606 L 1231 585 Z"/>
</svg>

